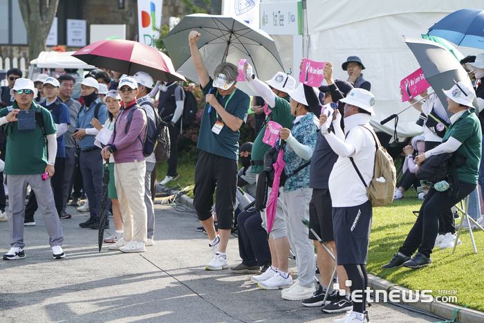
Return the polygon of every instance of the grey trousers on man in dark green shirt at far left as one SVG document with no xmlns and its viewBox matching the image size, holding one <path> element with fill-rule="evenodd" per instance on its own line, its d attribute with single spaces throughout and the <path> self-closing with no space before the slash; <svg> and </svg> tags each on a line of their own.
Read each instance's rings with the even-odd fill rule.
<svg viewBox="0 0 484 323">
<path fill-rule="evenodd" d="M 10 225 L 10 246 L 24 248 L 25 196 L 27 185 L 37 197 L 37 205 L 44 216 L 49 244 L 62 246 L 64 233 L 59 214 L 55 210 L 54 194 L 50 187 L 50 178 L 42 181 L 42 174 L 11 175 L 8 174 L 8 224 Z"/>
</svg>

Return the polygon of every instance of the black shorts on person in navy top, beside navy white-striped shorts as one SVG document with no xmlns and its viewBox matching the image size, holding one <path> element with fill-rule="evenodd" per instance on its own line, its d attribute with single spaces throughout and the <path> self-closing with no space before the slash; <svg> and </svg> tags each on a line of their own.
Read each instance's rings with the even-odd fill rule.
<svg viewBox="0 0 484 323">
<path fill-rule="evenodd" d="M 323 242 L 334 241 L 333 236 L 333 207 L 328 189 L 313 189 L 313 196 L 309 202 L 309 222 Z M 309 231 L 309 239 L 317 240 L 313 232 Z"/>
</svg>

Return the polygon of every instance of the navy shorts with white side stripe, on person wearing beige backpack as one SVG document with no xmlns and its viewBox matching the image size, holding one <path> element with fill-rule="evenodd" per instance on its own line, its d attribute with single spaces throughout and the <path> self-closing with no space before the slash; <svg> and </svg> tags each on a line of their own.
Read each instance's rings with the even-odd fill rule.
<svg viewBox="0 0 484 323">
<path fill-rule="evenodd" d="M 333 207 L 338 265 L 366 265 L 372 214 L 370 201 L 351 207 Z"/>
</svg>

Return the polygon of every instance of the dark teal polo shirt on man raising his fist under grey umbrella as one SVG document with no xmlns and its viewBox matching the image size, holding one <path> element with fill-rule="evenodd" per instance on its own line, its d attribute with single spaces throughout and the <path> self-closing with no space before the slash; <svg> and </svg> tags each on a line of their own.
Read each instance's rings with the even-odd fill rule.
<svg viewBox="0 0 484 323">
<path fill-rule="evenodd" d="M 210 81 L 202 89 L 203 95 L 207 95 L 210 89 L 213 87 L 214 80 L 210 77 Z M 234 89 L 234 95 L 230 98 L 230 95 L 216 95 L 218 103 L 222 107 L 225 107 L 225 111 L 232 114 L 245 122 L 247 120 L 247 109 L 250 106 L 250 97 L 239 89 Z M 212 91 L 211 94 L 214 94 Z M 229 100 L 230 98 L 230 100 Z M 228 100 L 228 102 L 227 102 Z M 225 158 L 239 160 L 239 138 L 240 131 L 232 131 L 226 124 L 223 126 L 220 133 L 216 134 L 212 131 L 212 127 L 216 120 L 222 120 L 220 116 L 217 117 L 217 113 L 214 107 L 209 113 L 209 104 L 205 102 L 205 108 L 203 109 L 202 122 L 200 125 L 200 133 L 198 133 L 198 143 L 196 147 L 198 149 L 205 150 L 210 154 L 222 156 Z M 222 120 L 223 121 L 223 120 Z"/>
</svg>

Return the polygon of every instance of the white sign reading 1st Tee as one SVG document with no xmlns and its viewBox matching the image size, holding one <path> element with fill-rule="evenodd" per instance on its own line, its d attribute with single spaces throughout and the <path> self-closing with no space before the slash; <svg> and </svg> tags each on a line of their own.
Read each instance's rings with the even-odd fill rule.
<svg viewBox="0 0 484 323">
<path fill-rule="evenodd" d="M 302 1 L 260 4 L 260 28 L 269 35 L 302 35 Z"/>
</svg>

